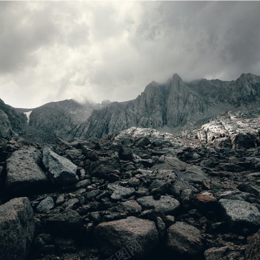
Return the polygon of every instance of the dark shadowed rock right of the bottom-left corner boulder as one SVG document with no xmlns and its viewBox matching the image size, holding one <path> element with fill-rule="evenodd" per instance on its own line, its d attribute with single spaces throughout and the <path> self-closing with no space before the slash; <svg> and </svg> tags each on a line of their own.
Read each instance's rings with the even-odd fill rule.
<svg viewBox="0 0 260 260">
<path fill-rule="evenodd" d="M 58 235 L 80 238 L 85 234 L 83 220 L 79 213 L 73 209 L 66 209 L 61 213 L 53 214 L 45 220 L 45 223 L 51 233 Z"/>
</svg>

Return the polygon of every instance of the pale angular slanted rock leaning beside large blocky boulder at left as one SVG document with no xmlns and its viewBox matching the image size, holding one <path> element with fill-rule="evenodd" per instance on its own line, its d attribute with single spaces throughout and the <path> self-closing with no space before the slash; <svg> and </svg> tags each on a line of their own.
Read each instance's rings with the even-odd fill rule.
<svg viewBox="0 0 260 260">
<path fill-rule="evenodd" d="M 70 185 L 79 181 L 77 166 L 68 159 L 57 155 L 50 148 L 44 148 L 42 161 L 47 170 L 49 170 L 49 177 L 52 183 Z"/>
</svg>

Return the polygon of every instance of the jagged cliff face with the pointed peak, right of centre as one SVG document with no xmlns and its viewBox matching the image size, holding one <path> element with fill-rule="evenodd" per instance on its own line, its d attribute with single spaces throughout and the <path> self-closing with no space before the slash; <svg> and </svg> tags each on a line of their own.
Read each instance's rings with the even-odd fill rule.
<svg viewBox="0 0 260 260">
<path fill-rule="evenodd" d="M 220 112 L 258 107 L 259 94 L 260 77 L 252 74 L 242 74 L 236 81 L 201 79 L 190 83 L 174 74 L 165 84 L 150 83 L 133 101 L 94 111 L 84 137 L 101 138 L 129 127 L 167 127 L 171 131 Z"/>
</svg>

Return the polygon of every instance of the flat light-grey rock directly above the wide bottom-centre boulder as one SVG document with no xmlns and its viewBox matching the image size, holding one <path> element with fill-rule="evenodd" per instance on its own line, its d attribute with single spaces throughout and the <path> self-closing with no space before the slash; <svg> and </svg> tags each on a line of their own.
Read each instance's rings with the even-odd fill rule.
<svg viewBox="0 0 260 260">
<path fill-rule="evenodd" d="M 180 206 L 178 200 L 169 196 L 161 196 L 159 200 L 155 200 L 153 196 L 146 196 L 138 198 L 137 202 L 144 209 L 155 209 L 157 211 L 161 211 L 164 214 L 174 213 Z"/>
</svg>

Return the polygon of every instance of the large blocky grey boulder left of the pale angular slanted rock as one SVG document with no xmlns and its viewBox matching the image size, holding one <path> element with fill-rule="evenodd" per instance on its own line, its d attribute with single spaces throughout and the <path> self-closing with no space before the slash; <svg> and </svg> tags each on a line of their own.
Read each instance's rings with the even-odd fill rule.
<svg viewBox="0 0 260 260">
<path fill-rule="evenodd" d="M 10 193 L 27 194 L 47 185 L 48 177 L 38 164 L 41 153 L 34 147 L 23 148 L 12 153 L 6 161 L 6 190 Z"/>
</svg>

